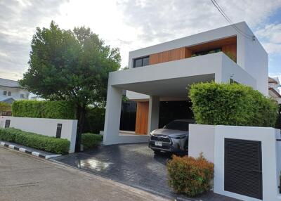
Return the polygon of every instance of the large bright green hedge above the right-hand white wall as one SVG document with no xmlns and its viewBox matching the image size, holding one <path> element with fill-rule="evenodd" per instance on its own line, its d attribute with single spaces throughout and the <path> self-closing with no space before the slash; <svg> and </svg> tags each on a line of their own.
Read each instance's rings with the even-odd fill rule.
<svg viewBox="0 0 281 201">
<path fill-rule="evenodd" d="M 277 104 L 242 84 L 192 84 L 189 97 L 197 124 L 274 127 Z"/>
</svg>

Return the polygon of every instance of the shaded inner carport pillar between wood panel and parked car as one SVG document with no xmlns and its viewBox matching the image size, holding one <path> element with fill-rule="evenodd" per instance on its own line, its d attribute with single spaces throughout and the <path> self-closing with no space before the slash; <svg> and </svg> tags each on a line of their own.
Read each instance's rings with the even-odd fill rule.
<svg viewBox="0 0 281 201">
<path fill-rule="evenodd" d="M 148 134 L 159 126 L 159 96 L 150 96 L 148 108 Z"/>
</svg>

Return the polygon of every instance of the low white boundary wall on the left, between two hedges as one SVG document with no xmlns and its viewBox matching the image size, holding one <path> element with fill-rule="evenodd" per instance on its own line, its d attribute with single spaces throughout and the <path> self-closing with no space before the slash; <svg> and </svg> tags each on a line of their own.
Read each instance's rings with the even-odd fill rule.
<svg viewBox="0 0 281 201">
<path fill-rule="evenodd" d="M 57 125 L 63 124 L 60 138 L 65 138 L 70 141 L 70 153 L 74 153 L 77 134 L 77 120 L 1 116 L 0 127 L 5 127 L 6 119 L 11 120 L 10 127 L 44 136 L 55 136 Z"/>
</svg>

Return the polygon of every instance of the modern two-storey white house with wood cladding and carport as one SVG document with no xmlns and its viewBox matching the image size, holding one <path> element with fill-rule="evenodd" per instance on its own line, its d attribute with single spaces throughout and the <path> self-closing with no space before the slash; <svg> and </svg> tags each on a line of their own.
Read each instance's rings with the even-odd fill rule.
<svg viewBox="0 0 281 201">
<path fill-rule="evenodd" d="M 237 82 L 268 96 L 268 54 L 246 22 L 236 26 L 253 38 L 229 25 L 131 51 L 129 69 L 109 75 L 103 143 L 146 142 L 150 131 L 169 120 L 191 118 L 187 86 L 192 83 Z M 129 134 L 119 131 L 126 124 L 122 90 L 136 101 L 136 124 Z M 133 110 L 133 104 L 127 108 Z"/>
</svg>

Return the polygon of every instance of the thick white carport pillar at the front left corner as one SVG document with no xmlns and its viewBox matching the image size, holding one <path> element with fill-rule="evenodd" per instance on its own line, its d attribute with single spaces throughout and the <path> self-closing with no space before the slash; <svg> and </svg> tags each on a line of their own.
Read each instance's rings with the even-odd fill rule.
<svg viewBox="0 0 281 201">
<path fill-rule="evenodd" d="M 107 102 L 105 111 L 105 129 L 103 144 L 110 145 L 118 143 L 120 115 L 122 104 L 122 89 L 108 84 Z"/>
</svg>

